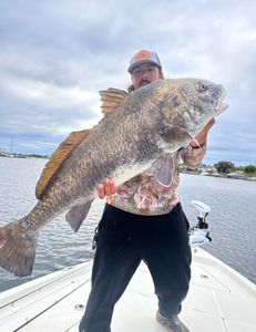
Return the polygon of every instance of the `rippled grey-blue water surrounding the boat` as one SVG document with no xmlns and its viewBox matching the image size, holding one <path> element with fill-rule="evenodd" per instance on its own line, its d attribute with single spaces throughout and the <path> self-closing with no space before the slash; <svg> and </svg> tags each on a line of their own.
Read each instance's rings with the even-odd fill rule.
<svg viewBox="0 0 256 332">
<path fill-rule="evenodd" d="M 0 158 L 0 226 L 21 218 L 35 204 L 34 187 L 47 159 Z M 197 199 L 211 206 L 208 216 L 213 241 L 207 251 L 256 283 L 256 183 L 181 175 L 178 194 L 191 221 L 196 224 Z M 17 278 L 0 269 L 0 291 L 93 258 L 94 228 L 101 218 L 103 201 L 95 200 L 78 234 L 58 217 L 41 232 L 31 277 Z"/>
</svg>

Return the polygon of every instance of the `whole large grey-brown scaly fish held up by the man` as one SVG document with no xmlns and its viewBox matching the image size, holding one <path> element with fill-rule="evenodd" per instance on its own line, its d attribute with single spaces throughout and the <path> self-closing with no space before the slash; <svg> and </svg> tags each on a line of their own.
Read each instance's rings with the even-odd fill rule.
<svg viewBox="0 0 256 332">
<path fill-rule="evenodd" d="M 197 79 L 160 80 L 131 94 L 110 89 L 101 96 L 105 116 L 60 145 L 37 185 L 35 207 L 0 228 L 0 266 L 16 276 L 31 274 L 39 232 L 53 218 L 68 211 L 78 230 L 99 183 L 109 177 L 120 185 L 149 169 L 227 107 L 222 85 Z"/>
</svg>

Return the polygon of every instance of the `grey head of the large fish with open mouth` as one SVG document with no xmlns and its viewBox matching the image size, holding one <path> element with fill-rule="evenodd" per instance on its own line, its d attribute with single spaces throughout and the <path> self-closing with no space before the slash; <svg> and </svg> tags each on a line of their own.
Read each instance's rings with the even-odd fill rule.
<svg viewBox="0 0 256 332">
<path fill-rule="evenodd" d="M 180 79 L 170 80 L 167 85 L 170 89 L 163 103 L 165 120 L 193 137 L 228 107 L 223 102 L 226 91 L 221 84 L 201 79 Z"/>
</svg>

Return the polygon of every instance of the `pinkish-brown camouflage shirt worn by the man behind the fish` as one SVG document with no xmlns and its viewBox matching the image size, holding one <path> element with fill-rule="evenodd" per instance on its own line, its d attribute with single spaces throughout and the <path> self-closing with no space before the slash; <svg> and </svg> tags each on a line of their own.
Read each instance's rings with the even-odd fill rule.
<svg viewBox="0 0 256 332">
<path fill-rule="evenodd" d="M 151 174 L 151 169 L 131 178 L 119 186 L 116 194 L 107 198 L 107 203 L 122 210 L 137 215 L 164 215 L 178 203 L 176 188 L 180 183 L 178 164 L 181 159 L 191 168 L 196 168 L 205 155 L 205 146 L 193 148 L 188 145 L 175 154 L 166 154 L 171 159 L 171 184 L 164 186 Z"/>
</svg>

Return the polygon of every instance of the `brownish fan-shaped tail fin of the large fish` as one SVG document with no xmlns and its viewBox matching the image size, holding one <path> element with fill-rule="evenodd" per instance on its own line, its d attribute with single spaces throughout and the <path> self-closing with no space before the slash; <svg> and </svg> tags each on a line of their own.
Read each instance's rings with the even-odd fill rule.
<svg viewBox="0 0 256 332">
<path fill-rule="evenodd" d="M 25 218 L 0 227 L 0 267 L 18 277 L 32 273 L 38 243 L 37 234 L 22 227 Z"/>
</svg>

